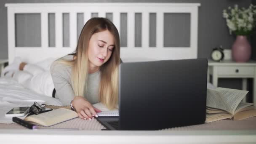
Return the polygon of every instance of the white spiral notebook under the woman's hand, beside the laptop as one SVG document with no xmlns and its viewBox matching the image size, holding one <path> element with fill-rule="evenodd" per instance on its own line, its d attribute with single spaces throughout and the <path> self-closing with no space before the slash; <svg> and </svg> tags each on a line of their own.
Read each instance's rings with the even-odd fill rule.
<svg viewBox="0 0 256 144">
<path fill-rule="evenodd" d="M 118 109 L 109 110 L 107 107 L 102 103 L 93 104 L 94 107 L 101 110 L 101 112 L 98 112 L 97 115 L 99 117 L 112 117 L 112 116 L 119 116 Z"/>
</svg>

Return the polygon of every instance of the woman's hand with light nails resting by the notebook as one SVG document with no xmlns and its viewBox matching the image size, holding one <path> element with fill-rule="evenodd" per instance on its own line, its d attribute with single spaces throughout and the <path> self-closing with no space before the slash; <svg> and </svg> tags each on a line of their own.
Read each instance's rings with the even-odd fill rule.
<svg viewBox="0 0 256 144">
<path fill-rule="evenodd" d="M 85 120 L 91 120 L 94 116 L 98 117 L 97 112 L 101 112 L 101 110 L 93 107 L 93 105 L 82 96 L 75 96 L 72 105 L 76 109 L 78 116 Z"/>
</svg>

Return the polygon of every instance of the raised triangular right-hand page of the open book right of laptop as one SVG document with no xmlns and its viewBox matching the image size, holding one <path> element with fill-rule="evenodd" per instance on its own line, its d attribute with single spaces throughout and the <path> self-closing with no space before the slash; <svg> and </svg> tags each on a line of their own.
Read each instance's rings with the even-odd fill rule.
<svg viewBox="0 0 256 144">
<path fill-rule="evenodd" d="M 242 101 L 248 91 L 243 90 L 236 90 L 230 88 L 217 88 L 216 91 L 222 96 L 222 99 L 227 103 L 228 107 L 232 115 L 235 114 L 235 109 L 237 108 L 238 104 Z"/>
</svg>

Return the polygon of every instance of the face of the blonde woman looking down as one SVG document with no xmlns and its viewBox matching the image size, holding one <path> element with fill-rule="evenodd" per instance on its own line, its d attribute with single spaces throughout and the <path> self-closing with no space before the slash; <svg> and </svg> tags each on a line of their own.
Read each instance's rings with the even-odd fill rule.
<svg viewBox="0 0 256 144">
<path fill-rule="evenodd" d="M 88 47 L 89 67 L 99 68 L 107 62 L 114 47 L 115 39 L 108 30 L 93 34 Z"/>
</svg>

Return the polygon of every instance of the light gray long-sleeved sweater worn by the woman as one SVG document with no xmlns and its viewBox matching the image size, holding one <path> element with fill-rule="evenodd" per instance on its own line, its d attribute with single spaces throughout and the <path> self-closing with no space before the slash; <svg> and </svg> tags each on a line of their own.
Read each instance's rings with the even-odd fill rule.
<svg viewBox="0 0 256 144">
<path fill-rule="evenodd" d="M 74 56 L 67 55 L 62 59 L 72 60 Z M 84 96 L 91 104 L 99 102 L 99 82 L 100 71 L 88 75 L 87 95 Z M 75 97 L 75 93 L 71 86 L 71 67 L 64 64 L 53 63 L 51 65 L 51 76 L 56 90 L 55 97 L 59 99 L 63 105 L 69 105 Z"/>
</svg>

